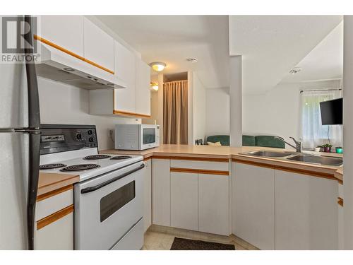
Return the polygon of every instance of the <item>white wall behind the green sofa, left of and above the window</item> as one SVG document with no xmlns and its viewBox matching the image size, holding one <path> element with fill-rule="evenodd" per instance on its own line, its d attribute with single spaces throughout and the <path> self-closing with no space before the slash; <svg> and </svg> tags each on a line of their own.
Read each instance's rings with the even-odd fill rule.
<svg viewBox="0 0 353 265">
<path fill-rule="evenodd" d="M 280 83 L 265 94 L 243 95 L 243 134 L 300 136 L 300 90 L 340 88 L 340 80 Z"/>
</svg>

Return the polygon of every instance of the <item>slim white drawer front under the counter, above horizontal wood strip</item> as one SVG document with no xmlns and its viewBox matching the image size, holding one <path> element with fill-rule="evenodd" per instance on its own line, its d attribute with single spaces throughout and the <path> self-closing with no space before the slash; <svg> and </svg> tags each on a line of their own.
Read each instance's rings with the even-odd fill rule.
<svg viewBox="0 0 353 265">
<path fill-rule="evenodd" d="M 170 167 L 190 168 L 195 170 L 219 170 L 228 171 L 229 163 L 213 162 L 213 161 L 198 161 L 198 160 L 170 160 Z"/>
</svg>

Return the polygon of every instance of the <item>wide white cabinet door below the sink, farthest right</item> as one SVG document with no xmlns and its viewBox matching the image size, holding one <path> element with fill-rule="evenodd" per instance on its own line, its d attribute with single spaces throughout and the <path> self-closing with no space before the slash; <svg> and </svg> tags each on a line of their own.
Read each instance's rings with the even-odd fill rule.
<svg viewBox="0 0 353 265">
<path fill-rule="evenodd" d="M 337 181 L 275 171 L 276 249 L 337 249 Z"/>
</svg>

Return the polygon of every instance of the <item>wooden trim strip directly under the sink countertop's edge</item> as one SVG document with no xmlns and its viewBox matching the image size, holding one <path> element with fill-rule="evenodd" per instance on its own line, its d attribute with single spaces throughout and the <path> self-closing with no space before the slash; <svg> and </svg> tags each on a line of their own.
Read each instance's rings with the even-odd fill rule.
<svg viewBox="0 0 353 265">
<path fill-rule="evenodd" d="M 258 167 L 268 167 L 272 168 L 274 170 L 282 170 L 282 171 L 287 171 L 287 172 L 292 172 L 292 173 L 297 173 L 297 174 L 303 174 L 303 175 L 309 175 L 312 177 L 322 177 L 324 179 L 333 179 L 333 180 L 338 180 L 333 174 L 330 173 L 325 173 L 325 172 L 315 172 L 311 170 L 303 170 L 300 168 L 293 168 L 293 167 L 285 167 L 281 165 L 269 165 L 265 163 L 258 163 L 258 162 L 253 162 L 249 160 L 241 160 L 237 158 L 232 158 L 233 162 L 236 163 L 242 163 L 242 164 L 247 164 L 247 165 L 255 165 Z"/>
</svg>

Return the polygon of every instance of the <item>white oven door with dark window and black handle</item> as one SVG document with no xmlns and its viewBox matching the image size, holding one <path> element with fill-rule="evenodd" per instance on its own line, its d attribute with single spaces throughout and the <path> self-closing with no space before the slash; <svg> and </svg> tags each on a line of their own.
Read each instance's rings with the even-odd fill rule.
<svg viewBox="0 0 353 265">
<path fill-rule="evenodd" d="M 143 217 L 143 167 L 75 184 L 75 249 L 111 249 Z"/>
</svg>

